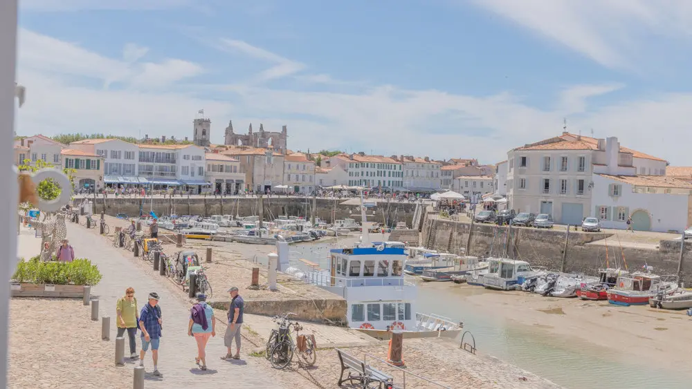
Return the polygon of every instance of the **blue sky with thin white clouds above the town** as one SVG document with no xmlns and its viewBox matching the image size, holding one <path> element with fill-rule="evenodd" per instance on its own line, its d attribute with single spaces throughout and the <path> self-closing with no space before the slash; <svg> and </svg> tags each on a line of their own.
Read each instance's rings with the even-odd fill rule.
<svg viewBox="0 0 692 389">
<path fill-rule="evenodd" d="M 17 134 L 507 159 L 567 130 L 691 165 L 692 1 L 19 0 Z"/>
</svg>

